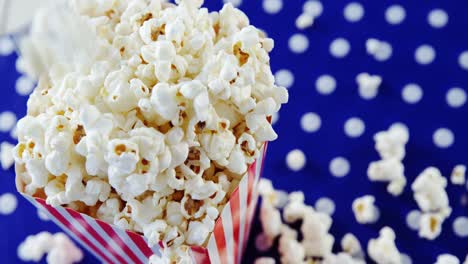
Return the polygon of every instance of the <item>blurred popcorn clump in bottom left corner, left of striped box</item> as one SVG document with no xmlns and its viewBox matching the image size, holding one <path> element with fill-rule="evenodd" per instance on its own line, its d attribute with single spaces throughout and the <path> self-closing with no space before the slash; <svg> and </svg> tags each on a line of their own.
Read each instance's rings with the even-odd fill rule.
<svg viewBox="0 0 468 264">
<path fill-rule="evenodd" d="M 18 246 L 18 257 L 23 261 L 39 262 L 45 254 L 49 264 L 72 264 L 83 259 L 83 252 L 64 233 L 41 232 L 28 236 Z"/>
</svg>

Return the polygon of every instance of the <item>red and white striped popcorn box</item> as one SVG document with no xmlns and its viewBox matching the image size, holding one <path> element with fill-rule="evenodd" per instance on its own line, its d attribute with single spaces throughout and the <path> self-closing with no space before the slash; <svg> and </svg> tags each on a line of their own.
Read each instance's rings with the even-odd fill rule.
<svg viewBox="0 0 468 264">
<path fill-rule="evenodd" d="M 262 155 L 240 181 L 216 221 L 207 247 L 192 247 L 194 263 L 237 264 L 247 245 L 250 226 L 258 199 L 257 184 L 261 176 L 266 144 Z M 21 187 L 18 189 L 21 192 Z M 149 248 L 145 238 L 81 214 L 69 208 L 52 207 L 43 199 L 23 194 L 84 248 L 103 263 L 148 263 L 151 255 L 161 255 L 162 243 Z"/>
</svg>

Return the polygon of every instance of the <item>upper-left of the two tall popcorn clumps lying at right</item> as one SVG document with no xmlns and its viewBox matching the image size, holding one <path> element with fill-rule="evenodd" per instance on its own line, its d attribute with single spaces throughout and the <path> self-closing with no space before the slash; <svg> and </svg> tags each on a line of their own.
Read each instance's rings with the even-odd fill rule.
<svg viewBox="0 0 468 264">
<path fill-rule="evenodd" d="M 406 186 L 405 167 L 401 161 L 408 140 L 408 129 L 399 124 L 374 135 L 375 149 L 381 160 L 369 164 L 367 176 L 371 181 L 389 182 L 387 191 L 394 196 L 400 195 Z"/>
</svg>

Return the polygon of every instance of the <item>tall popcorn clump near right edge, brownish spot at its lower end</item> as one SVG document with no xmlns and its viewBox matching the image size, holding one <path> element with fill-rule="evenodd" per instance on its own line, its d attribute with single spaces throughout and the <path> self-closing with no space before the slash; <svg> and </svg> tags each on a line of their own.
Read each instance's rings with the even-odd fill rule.
<svg viewBox="0 0 468 264">
<path fill-rule="evenodd" d="M 433 240 L 442 231 L 442 223 L 452 212 L 447 193 L 447 180 L 437 168 L 425 169 L 413 182 L 411 189 L 420 210 L 419 236 Z"/>
</svg>

